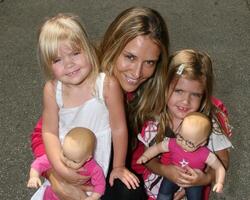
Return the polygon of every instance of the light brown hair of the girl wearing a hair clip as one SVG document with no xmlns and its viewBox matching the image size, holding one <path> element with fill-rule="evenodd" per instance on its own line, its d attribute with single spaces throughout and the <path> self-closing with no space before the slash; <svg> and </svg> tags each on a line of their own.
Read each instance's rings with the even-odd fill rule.
<svg viewBox="0 0 250 200">
<path fill-rule="evenodd" d="M 180 70 L 181 65 L 183 69 L 177 73 L 177 71 Z M 198 112 L 202 112 L 209 116 L 213 107 L 211 96 L 213 93 L 214 81 L 212 62 L 209 55 L 201 51 L 184 49 L 177 51 L 170 56 L 165 90 L 166 102 L 168 102 L 172 95 L 180 77 L 189 80 L 196 80 L 202 84 L 204 93 Z M 171 116 L 169 116 L 167 112 L 167 107 L 165 113 L 166 114 L 162 115 L 162 118 L 160 119 L 160 131 L 157 136 L 157 141 L 163 139 L 165 129 L 166 127 L 169 127 L 169 123 L 171 123 Z"/>
</svg>

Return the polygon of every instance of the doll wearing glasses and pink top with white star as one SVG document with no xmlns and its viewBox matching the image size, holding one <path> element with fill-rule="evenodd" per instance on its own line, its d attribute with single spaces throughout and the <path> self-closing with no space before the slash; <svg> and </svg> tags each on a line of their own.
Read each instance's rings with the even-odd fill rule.
<svg viewBox="0 0 250 200">
<path fill-rule="evenodd" d="M 195 169 L 205 169 L 205 165 L 212 167 L 216 174 L 213 191 L 222 192 L 225 169 L 216 155 L 205 146 L 211 132 L 209 118 L 198 112 L 189 113 L 181 124 L 176 138 L 167 138 L 148 148 L 138 159 L 137 163 L 146 163 L 160 153 L 170 152 L 171 163 L 185 169 L 186 166 Z M 157 200 L 173 199 L 178 185 L 164 178 L 161 183 Z M 203 186 L 185 188 L 188 199 L 201 199 Z"/>
</svg>

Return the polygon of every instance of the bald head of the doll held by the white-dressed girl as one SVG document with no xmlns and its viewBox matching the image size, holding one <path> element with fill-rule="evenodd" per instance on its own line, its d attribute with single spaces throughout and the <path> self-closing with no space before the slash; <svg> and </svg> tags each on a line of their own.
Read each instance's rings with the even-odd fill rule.
<svg viewBox="0 0 250 200">
<path fill-rule="evenodd" d="M 95 150 L 96 138 L 87 128 L 73 128 L 65 136 L 61 159 L 72 169 L 79 169 L 92 158 Z"/>
</svg>

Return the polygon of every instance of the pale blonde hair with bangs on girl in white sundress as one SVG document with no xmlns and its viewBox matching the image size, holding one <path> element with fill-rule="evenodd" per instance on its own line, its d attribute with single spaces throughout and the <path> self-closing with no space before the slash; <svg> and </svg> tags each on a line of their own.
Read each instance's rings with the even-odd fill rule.
<svg viewBox="0 0 250 200">
<path fill-rule="evenodd" d="M 47 19 L 38 32 L 38 57 L 47 79 L 53 79 L 52 64 L 58 56 L 60 42 L 68 42 L 73 50 L 83 51 L 92 70 L 89 77 L 98 74 L 98 59 L 80 19 L 72 14 L 60 13 Z"/>
</svg>

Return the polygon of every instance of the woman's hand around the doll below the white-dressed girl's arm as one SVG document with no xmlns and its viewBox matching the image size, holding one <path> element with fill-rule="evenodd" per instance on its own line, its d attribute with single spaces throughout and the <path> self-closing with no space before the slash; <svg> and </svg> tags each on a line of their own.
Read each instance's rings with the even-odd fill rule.
<svg viewBox="0 0 250 200">
<path fill-rule="evenodd" d="M 84 191 L 92 191 L 92 186 L 75 186 L 63 180 L 54 170 L 47 172 L 52 190 L 61 200 L 81 200 L 86 198 Z"/>
</svg>

